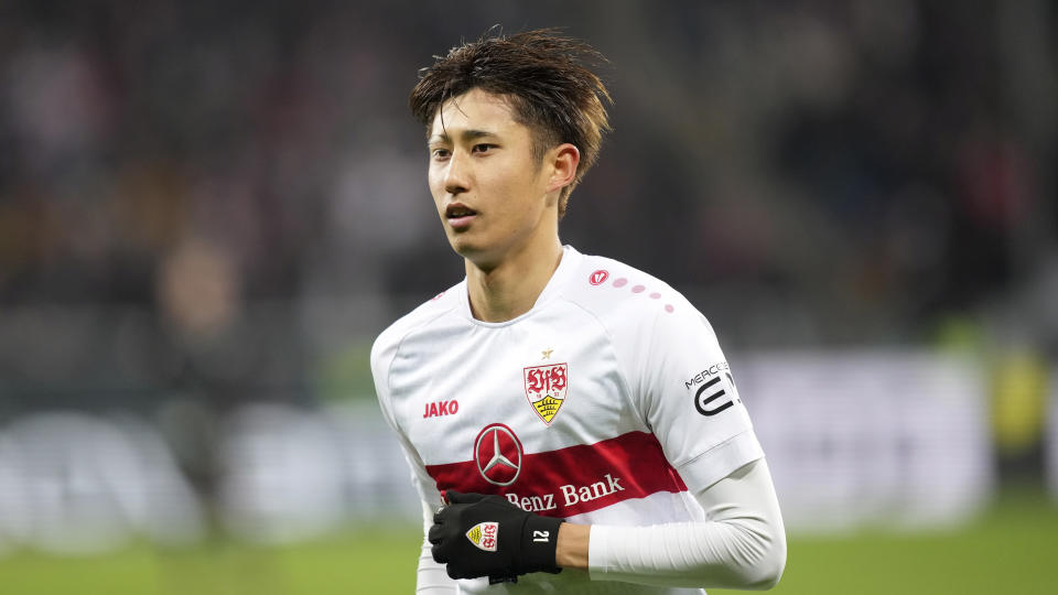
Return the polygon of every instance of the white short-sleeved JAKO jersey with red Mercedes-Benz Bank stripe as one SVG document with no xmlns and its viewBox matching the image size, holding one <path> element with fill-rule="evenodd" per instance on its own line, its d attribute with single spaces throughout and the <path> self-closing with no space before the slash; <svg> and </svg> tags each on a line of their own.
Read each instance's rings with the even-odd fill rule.
<svg viewBox="0 0 1058 595">
<path fill-rule="evenodd" d="M 577 523 L 698 521 L 691 493 L 764 456 L 705 317 L 661 281 L 571 247 L 526 314 L 475 320 L 464 280 L 386 329 L 371 370 L 431 509 L 456 489 Z M 505 588 L 522 587 L 701 593 L 570 570 Z"/>
</svg>

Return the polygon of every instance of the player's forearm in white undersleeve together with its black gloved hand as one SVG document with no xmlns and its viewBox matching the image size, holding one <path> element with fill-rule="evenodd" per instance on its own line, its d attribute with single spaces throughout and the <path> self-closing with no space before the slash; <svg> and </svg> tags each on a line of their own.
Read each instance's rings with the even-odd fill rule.
<svg viewBox="0 0 1058 595">
<path fill-rule="evenodd" d="M 499 496 L 450 491 L 450 497 L 452 504 L 434 515 L 428 534 L 433 559 L 453 577 L 514 580 L 564 566 L 587 569 L 594 581 L 766 589 L 778 583 L 786 565 L 782 517 L 763 458 L 695 494 L 705 510 L 701 521 L 573 524 L 525 511 Z M 483 521 L 498 536 L 472 545 L 465 534 Z M 554 540 L 543 539 L 549 534 Z"/>
</svg>

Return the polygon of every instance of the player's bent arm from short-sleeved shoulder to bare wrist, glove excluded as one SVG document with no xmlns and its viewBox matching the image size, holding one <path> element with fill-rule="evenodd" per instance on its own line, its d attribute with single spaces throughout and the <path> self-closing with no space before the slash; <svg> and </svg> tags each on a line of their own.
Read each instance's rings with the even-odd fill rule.
<svg viewBox="0 0 1058 595">
<path fill-rule="evenodd" d="M 593 580 L 768 588 L 782 574 L 786 536 L 764 451 L 712 325 L 685 300 L 673 302 L 631 332 L 615 325 L 626 333 L 615 344 L 629 409 L 658 437 L 705 519 L 560 529 L 569 544 L 560 562 L 586 563 Z"/>
</svg>

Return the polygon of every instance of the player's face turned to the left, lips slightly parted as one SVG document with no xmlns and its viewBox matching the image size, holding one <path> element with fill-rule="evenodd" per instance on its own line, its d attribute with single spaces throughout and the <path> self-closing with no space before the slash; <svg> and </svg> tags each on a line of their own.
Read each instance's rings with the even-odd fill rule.
<svg viewBox="0 0 1058 595">
<path fill-rule="evenodd" d="M 446 101 L 428 139 L 430 193 L 452 248 L 481 268 L 558 241 L 558 190 L 532 133 L 501 96 Z"/>
</svg>

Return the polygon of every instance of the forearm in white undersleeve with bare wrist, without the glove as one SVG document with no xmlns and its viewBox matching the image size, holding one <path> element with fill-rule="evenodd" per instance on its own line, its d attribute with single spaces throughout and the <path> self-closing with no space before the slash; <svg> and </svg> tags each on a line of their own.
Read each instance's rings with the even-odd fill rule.
<svg viewBox="0 0 1058 595">
<path fill-rule="evenodd" d="M 708 520 L 650 527 L 573 526 L 559 531 L 559 565 L 593 580 L 766 589 L 786 565 L 786 532 L 762 458 L 695 495 Z"/>
</svg>

